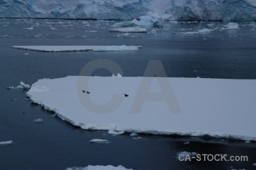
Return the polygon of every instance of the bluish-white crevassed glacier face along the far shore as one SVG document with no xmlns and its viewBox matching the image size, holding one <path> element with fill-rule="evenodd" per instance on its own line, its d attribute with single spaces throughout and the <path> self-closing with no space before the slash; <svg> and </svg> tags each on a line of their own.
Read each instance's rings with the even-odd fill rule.
<svg viewBox="0 0 256 170">
<path fill-rule="evenodd" d="M 256 20 L 255 0 L 2 0 L 0 17 L 138 19 L 151 12 L 172 20 Z"/>
</svg>

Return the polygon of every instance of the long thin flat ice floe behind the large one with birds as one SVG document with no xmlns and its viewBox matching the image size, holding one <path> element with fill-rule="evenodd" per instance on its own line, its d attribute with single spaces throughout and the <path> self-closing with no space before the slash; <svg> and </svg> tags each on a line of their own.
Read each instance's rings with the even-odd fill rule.
<svg viewBox="0 0 256 170">
<path fill-rule="evenodd" d="M 100 51 L 130 51 L 138 50 L 141 46 L 127 46 L 127 45 L 112 45 L 112 46 L 76 46 L 76 45 L 42 45 L 42 46 L 13 46 L 16 49 L 34 50 L 40 52 L 75 52 L 75 51 L 88 51 L 92 50 L 94 52 Z"/>
</svg>

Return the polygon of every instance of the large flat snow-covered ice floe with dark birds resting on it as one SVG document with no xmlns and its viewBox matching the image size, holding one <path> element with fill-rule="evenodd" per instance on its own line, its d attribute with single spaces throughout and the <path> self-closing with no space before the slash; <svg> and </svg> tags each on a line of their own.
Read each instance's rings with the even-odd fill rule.
<svg viewBox="0 0 256 170">
<path fill-rule="evenodd" d="M 81 79 L 90 95 L 82 93 L 85 85 L 78 83 Z M 175 114 L 167 107 L 170 101 L 146 101 L 146 97 L 138 96 L 142 80 L 152 80 L 149 95 L 162 91 L 158 80 L 169 82 L 181 113 Z M 47 91 L 34 90 L 40 87 Z M 27 96 L 82 129 L 256 141 L 255 87 L 256 80 L 67 76 L 40 79 L 32 84 Z M 140 97 L 145 101 L 141 111 L 130 113 Z"/>
</svg>

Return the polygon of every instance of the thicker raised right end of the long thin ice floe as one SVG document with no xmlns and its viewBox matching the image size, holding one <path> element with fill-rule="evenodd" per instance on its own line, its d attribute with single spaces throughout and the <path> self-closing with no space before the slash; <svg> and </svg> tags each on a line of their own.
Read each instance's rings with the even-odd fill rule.
<svg viewBox="0 0 256 170">
<path fill-rule="evenodd" d="M 126 46 L 126 45 L 113 45 L 113 46 L 99 46 L 93 49 L 93 52 L 106 52 L 106 51 L 136 51 L 137 46 Z"/>
</svg>

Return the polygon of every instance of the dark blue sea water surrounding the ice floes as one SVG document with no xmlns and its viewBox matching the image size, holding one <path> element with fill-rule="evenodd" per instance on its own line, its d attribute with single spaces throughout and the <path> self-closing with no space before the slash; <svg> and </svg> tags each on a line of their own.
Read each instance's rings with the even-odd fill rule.
<svg viewBox="0 0 256 170">
<path fill-rule="evenodd" d="M 221 79 L 256 79 L 256 26 L 196 35 L 172 32 L 197 31 L 209 23 L 172 24 L 148 33 L 108 32 L 114 21 L 0 19 L 0 169 L 66 169 L 87 165 L 123 165 L 131 169 L 255 169 L 256 143 L 232 139 L 139 135 L 102 136 L 107 131 L 81 130 L 50 117 L 53 113 L 23 100 L 27 90 L 20 81 L 32 84 L 42 78 L 79 75 L 94 59 L 110 59 L 121 66 L 123 76 L 143 76 L 150 60 L 160 60 L 167 76 Z M 213 28 L 227 23 L 214 23 Z M 90 27 L 83 27 L 89 24 Z M 30 28 L 34 29 L 23 29 Z M 57 29 L 51 29 L 57 28 Z M 213 29 L 210 28 L 210 29 Z M 97 31 L 97 32 L 90 32 Z M 118 36 L 121 35 L 121 36 Z M 86 37 L 82 37 L 86 36 Z M 13 49 L 14 45 L 141 45 L 136 52 L 46 53 Z M 24 55 L 30 53 L 30 55 Z M 106 69 L 92 75 L 111 76 Z M 10 99 L 19 99 L 11 101 Z M 43 123 L 35 123 L 36 118 Z M 217 125 L 216 125 L 217 126 Z M 227 125 L 228 126 L 228 125 Z M 224 130 L 225 131 L 225 130 Z M 98 145 L 91 139 L 112 143 Z M 184 142 L 190 142 L 184 145 Z M 177 152 L 248 156 L 247 162 L 180 162 Z"/>
</svg>

